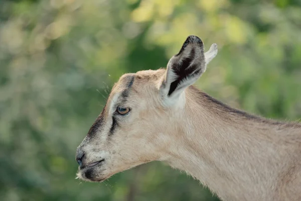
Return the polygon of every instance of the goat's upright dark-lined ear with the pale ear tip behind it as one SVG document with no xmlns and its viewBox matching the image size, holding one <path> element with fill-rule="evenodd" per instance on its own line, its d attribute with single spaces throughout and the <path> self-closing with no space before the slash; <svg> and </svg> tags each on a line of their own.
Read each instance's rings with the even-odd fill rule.
<svg viewBox="0 0 301 201">
<path fill-rule="evenodd" d="M 205 72 L 206 65 L 216 56 L 217 45 L 212 44 L 204 53 L 202 40 L 189 36 L 180 52 L 167 64 L 167 71 L 162 79 L 160 90 L 167 98 L 178 97 L 188 86 L 194 84 Z"/>
</svg>

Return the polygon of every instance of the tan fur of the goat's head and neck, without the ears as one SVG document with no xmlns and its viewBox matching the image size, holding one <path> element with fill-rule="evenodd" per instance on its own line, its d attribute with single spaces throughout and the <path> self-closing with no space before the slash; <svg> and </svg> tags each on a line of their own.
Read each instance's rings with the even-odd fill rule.
<svg viewBox="0 0 301 201">
<path fill-rule="evenodd" d="M 159 86 L 165 75 L 166 69 L 147 70 L 119 79 L 101 128 L 79 147 L 87 154 L 85 164 L 105 161 L 80 170 L 79 178 L 102 181 L 160 160 L 199 179 L 222 200 L 301 200 L 300 124 L 232 109 L 194 86 L 185 89 L 179 103 L 164 107 Z M 126 98 L 120 95 L 124 91 Z M 118 117 L 109 136 L 116 103 L 131 110 Z"/>
</svg>

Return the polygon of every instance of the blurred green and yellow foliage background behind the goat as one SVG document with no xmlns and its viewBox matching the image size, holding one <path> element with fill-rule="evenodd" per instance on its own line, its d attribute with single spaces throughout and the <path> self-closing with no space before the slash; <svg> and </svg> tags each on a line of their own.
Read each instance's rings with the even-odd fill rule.
<svg viewBox="0 0 301 201">
<path fill-rule="evenodd" d="M 0 200 L 218 200 L 159 162 L 104 183 L 75 179 L 76 147 L 112 84 L 165 67 L 192 34 L 219 48 L 199 88 L 301 118 L 299 0 L 1 0 Z"/>
</svg>

